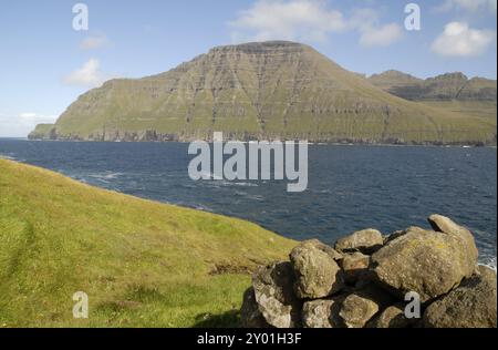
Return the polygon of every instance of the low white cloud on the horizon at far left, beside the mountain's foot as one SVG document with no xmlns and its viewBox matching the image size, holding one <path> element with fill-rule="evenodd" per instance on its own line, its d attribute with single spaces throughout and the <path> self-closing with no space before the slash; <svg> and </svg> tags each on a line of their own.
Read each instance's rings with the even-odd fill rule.
<svg viewBox="0 0 498 350">
<path fill-rule="evenodd" d="M 19 115 L 0 115 L 0 137 L 25 137 L 38 124 L 55 123 L 58 115 L 25 112 Z"/>
</svg>

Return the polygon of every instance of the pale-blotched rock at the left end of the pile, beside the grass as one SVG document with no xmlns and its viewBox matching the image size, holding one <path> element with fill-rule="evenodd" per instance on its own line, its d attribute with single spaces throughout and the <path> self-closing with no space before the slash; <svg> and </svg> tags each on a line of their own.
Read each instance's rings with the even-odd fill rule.
<svg viewBox="0 0 498 350">
<path fill-rule="evenodd" d="M 294 328 L 301 322 L 302 303 L 293 294 L 294 274 L 290 262 L 260 268 L 252 277 L 256 301 L 270 326 Z"/>
</svg>

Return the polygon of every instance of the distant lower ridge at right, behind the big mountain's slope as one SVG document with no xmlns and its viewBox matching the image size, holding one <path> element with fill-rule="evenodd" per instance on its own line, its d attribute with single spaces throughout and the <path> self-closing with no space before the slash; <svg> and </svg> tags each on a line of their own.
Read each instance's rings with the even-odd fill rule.
<svg viewBox="0 0 498 350">
<path fill-rule="evenodd" d="M 484 78 L 468 79 L 463 73 L 447 73 L 426 80 L 398 71 L 369 78 L 388 93 L 411 101 L 490 101 L 497 100 L 497 82 Z"/>
</svg>

